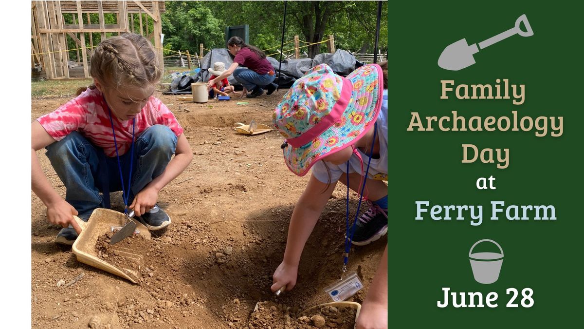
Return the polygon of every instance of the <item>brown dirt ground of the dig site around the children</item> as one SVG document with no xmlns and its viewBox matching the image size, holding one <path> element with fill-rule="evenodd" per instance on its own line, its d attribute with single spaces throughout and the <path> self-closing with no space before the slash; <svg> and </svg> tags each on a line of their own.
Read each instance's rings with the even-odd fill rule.
<svg viewBox="0 0 584 329">
<path fill-rule="evenodd" d="M 159 96 L 185 128 L 194 159 L 159 193 L 158 204 L 172 224 L 152 239 L 150 249 L 140 251 L 148 275 L 139 284 L 79 263 L 70 247 L 55 244 L 60 228 L 46 220 L 46 208 L 31 193 L 32 326 L 86 328 L 92 320 L 99 328 L 245 328 L 258 301 L 299 309 L 330 301 L 323 289 L 340 277 L 345 201 L 329 200 L 305 246 L 296 287 L 274 298 L 272 274 L 308 175 L 297 177 L 284 165 L 278 132 L 246 136 L 232 128 L 252 119 L 271 125 L 272 110 L 285 92 L 242 100 L 247 105 Z M 31 119 L 67 101 L 33 99 Z M 64 196 L 44 151 L 37 154 Z M 340 195 L 343 187 L 337 187 Z M 121 193 L 112 194 L 112 206 L 123 209 Z M 386 241 L 353 248 L 349 270 L 360 274 L 365 287 L 350 301 L 363 301 Z"/>
</svg>

